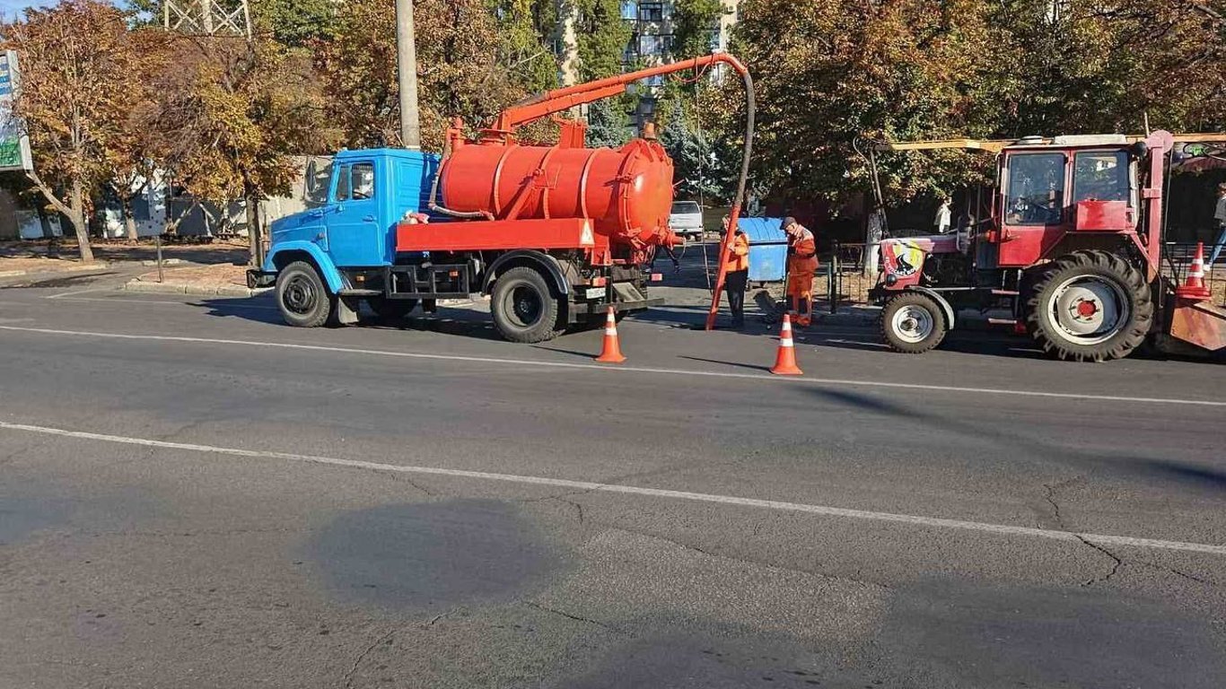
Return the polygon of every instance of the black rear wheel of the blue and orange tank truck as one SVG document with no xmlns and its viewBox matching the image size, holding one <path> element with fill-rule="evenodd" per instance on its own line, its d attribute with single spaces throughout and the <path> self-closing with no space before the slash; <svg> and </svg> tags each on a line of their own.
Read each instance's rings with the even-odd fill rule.
<svg viewBox="0 0 1226 689">
<path fill-rule="evenodd" d="M 535 268 L 519 266 L 498 276 L 489 311 L 494 327 L 510 342 L 544 342 L 558 335 L 558 298 Z"/>
</svg>

